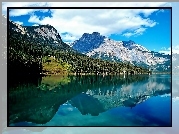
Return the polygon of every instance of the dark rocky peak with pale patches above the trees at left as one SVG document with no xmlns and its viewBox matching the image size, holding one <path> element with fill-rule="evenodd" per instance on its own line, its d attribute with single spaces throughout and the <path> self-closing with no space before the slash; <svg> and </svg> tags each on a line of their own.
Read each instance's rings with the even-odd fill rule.
<svg viewBox="0 0 179 134">
<path fill-rule="evenodd" d="M 19 34 L 19 37 L 23 35 L 23 38 L 26 37 L 26 40 L 31 40 L 31 42 L 35 42 L 39 45 L 68 51 L 72 50 L 69 45 L 62 41 L 58 31 L 49 24 L 39 26 L 22 26 L 9 20 L 9 30 Z M 13 34 L 11 33 L 10 36 L 13 36 Z"/>
</svg>

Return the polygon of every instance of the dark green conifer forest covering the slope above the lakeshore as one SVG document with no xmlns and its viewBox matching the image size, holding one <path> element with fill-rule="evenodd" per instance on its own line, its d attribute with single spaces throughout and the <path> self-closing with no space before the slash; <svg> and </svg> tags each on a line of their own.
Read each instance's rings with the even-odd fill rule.
<svg viewBox="0 0 179 134">
<path fill-rule="evenodd" d="M 33 32 L 33 28 L 28 29 Z M 67 63 L 70 66 L 68 73 L 96 75 L 119 74 L 124 71 L 148 73 L 147 69 L 129 63 L 90 58 L 72 50 L 63 41 L 52 44 L 51 41 L 44 40 L 36 32 L 33 32 L 32 35 L 9 30 L 8 73 L 10 75 L 39 75 L 43 72 L 43 63 L 51 62 L 48 59 L 49 56 L 54 57 L 59 64 Z"/>
</svg>

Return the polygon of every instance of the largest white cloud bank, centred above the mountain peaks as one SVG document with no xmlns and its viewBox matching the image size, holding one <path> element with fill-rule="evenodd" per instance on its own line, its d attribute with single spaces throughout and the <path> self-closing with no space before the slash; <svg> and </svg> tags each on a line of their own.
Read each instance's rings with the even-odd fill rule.
<svg viewBox="0 0 179 134">
<path fill-rule="evenodd" d="M 51 10 L 52 17 L 45 17 L 42 20 L 38 16 L 32 15 L 28 22 L 37 24 L 50 24 L 59 33 L 68 32 L 81 37 L 83 33 L 100 32 L 102 35 L 121 34 L 126 30 L 133 30 L 132 35 L 142 35 L 147 27 L 153 27 L 156 22 L 149 18 L 142 18 L 139 12 L 124 9 L 63 9 Z M 145 10 L 143 10 L 145 12 Z M 129 35 L 129 33 L 124 33 Z M 71 39 L 75 39 L 71 38 Z"/>
</svg>

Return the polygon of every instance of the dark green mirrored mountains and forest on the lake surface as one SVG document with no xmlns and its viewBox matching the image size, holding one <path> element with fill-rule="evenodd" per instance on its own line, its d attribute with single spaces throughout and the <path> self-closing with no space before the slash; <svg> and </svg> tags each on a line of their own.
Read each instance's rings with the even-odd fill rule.
<svg viewBox="0 0 179 134">
<path fill-rule="evenodd" d="M 9 89 L 9 124 L 45 124 L 67 101 L 82 115 L 98 116 L 109 109 L 135 107 L 152 96 L 171 93 L 170 76 L 50 76 L 38 85 L 24 83 Z"/>
</svg>

